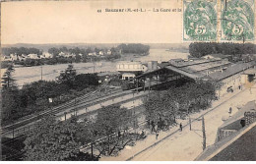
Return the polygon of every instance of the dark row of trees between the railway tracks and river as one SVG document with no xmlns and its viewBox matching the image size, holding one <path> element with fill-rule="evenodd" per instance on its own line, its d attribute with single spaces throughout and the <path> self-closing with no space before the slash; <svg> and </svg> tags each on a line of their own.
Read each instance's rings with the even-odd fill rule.
<svg viewBox="0 0 256 164">
<path fill-rule="evenodd" d="M 67 95 L 72 92 L 90 91 L 98 85 L 96 74 L 77 75 L 73 65 L 69 65 L 57 81 L 32 82 L 18 88 L 12 76 L 14 71 L 10 65 L 2 78 L 2 124 L 48 109 L 50 105 L 67 101 Z M 50 104 L 48 98 L 53 98 L 54 102 Z"/>
</svg>

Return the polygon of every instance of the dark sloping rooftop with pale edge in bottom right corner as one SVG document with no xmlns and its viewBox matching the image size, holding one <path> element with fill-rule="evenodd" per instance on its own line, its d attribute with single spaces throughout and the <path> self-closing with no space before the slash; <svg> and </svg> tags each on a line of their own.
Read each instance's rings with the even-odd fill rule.
<svg viewBox="0 0 256 164">
<path fill-rule="evenodd" d="M 255 161 L 256 122 L 208 146 L 196 161 Z"/>
</svg>

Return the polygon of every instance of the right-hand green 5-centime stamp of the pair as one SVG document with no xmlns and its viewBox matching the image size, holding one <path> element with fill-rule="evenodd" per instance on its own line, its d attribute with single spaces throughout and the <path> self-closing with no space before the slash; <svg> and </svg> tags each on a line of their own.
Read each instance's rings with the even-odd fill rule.
<svg viewBox="0 0 256 164">
<path fill-rule="evenodd" d="M 254 40 L 254 0 L 222 0 L 222 40 Z"/>
</svg>

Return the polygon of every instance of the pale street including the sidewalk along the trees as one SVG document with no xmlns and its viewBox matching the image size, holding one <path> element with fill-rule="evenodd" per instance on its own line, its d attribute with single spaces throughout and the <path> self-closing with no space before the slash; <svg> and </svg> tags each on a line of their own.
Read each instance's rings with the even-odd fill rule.
<svg viewBox="0 0 256 164">
<path fill-rule="evenodd" d="M 239 92 L 235 90 L 225 97 L 213 102 L 213 108 L 191 115 L 195 119 L 204 115 L 206 126 L 207 146 L 213 144 L 216 139 L 218 128 L 224 123 L 222 120 L 228 118 L 228 109 L 232 107 L 232 114 L 240 107 L 251 100 L 256 100 L 256 87 Z M 188 120 L 177 120 L 182 125 L 188 124 Z M 102 157 L 102 161 L 191 161 L 203 151 L 202 120 L 192 122 L 192 131 L 184 127 L 180 132 L 178 127 L 173 127 L 169 132 L 160 132 L 160 136 L 148 133 L 144 140 L 136 142 L 136 145 L 120 151 L 117 157 Z"/>
</svg>

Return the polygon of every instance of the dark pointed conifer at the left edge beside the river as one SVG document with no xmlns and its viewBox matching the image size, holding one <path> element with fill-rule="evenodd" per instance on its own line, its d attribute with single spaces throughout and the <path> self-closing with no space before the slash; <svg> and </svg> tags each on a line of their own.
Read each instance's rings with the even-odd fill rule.
<svg viewBox="0 0 256 164">
<path fill-rule="evenodd" d="M 15 72 L 14 66 L 9 65 L 2 78 L 3 88 L 15 86 L 15 80 L 13 79 L 14 72 Z"/>
</svg>

